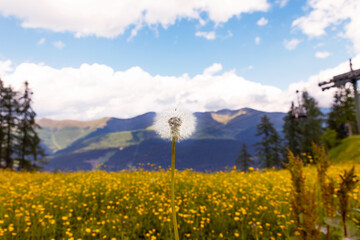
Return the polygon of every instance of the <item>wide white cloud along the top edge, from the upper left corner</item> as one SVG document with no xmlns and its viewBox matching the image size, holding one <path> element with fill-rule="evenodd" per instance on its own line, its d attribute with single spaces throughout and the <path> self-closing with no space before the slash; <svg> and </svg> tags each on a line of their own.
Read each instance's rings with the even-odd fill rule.
<svg viewBox="0 0 360 240">
<path fill-rule="evenodd" d="M 2 0 L 0 14 L 15 16 L 25 28 L 43 28 L 55 32 L 72 32 L 77 37 L 95 35 L 114 38 L 127 29 L 145 26 L 167 28 L 177 20 L 225 23 L 243 13 L 267 11 L 267 0 Z M 207 19 L 202 19 L 206 15 Z"/>
</svg>

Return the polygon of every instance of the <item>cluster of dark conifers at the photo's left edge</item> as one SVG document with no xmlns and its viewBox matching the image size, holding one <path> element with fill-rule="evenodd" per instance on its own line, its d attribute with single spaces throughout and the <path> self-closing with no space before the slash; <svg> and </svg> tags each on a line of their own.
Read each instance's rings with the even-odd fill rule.
<svg viewBox="0 0 360 240">
<path fill-rule="evenodd" d="M 0 79 L 0 167 L 16 170 L 38 169 L 45 153 L 36 132 L 33 92 L 24 83 L 23 92 L 5 86 Z"/>
</svg>

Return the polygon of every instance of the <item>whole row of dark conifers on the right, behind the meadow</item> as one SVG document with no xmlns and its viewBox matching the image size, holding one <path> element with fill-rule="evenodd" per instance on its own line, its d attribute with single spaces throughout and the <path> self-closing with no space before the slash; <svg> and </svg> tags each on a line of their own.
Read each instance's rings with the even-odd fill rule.
<svg viewBox="0 0 360 240">
<path fill-rule="evenodd" d="M 333 97 L 328 114 L 323 114 L 318 102 L 304 91 L 300 108 L 306 112 L 305 118 L 294 117 L 294 106 L 290 107 L 283 118 L 282 138 L 270 119 L 264 115 L 257 125 L 256 154 L 262 167 L 282 167 L 287 162 L 288 151 L 294 155 L 310 155 L 312 144 L 322 144 L 327 150 L 337 146 L 342 139 L 359 134 L 356 125 L 354 93 L 349 88 L 339 88 Z M 235 160 L 237 169 L 247 171 L 254 163 L 246 144 L 242 145 Z"/>
</svg>

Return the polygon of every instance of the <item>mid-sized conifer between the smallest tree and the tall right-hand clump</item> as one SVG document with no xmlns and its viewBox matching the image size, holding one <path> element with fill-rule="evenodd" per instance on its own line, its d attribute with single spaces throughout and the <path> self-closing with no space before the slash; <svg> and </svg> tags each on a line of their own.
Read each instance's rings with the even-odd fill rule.
<svg viewBox="0 0 360 240">
<path fill-rule="evenodd" d="M 261 141 L 256 143 L 260 160 L 266 168 L 280 166 L 281 140 L 270 119 L 264 115 L 256 127 L 256 136 L 262 136 Z"/>
</svg>

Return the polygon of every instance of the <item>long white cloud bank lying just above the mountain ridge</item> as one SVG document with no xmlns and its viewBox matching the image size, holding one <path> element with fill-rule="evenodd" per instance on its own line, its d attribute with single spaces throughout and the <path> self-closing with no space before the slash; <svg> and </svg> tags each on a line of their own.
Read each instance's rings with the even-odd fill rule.
<svg viewBox="0 0 360 240">
<path fill-rule="evenodd" d="M 353 58 L 354 69 L 360 55 Z M 133 117 L 182 105 L 192 111 L 251 107 L 264 111 L 288 111 L 296 90 L 308 90 L 321 107 L 329 107 L 335 89 L 322 92 L 319 81 L 349 70 L 344 62 L 321 71 L 308 80 L 290 84 L 288 89 L 244 79 L 235 71 L 222 71 L 215 63 L 203 73 L 189 77 L 151 75 L 140 67 L 114 71 L 101 64 L 82 64 L 79 68 L 56 69 L 44 64 L 22 63 L 12 66 L 0 62 L 0 76 L 6 84 L 21 89 L 28 80 L 34 91 L 34 108 L 39 117 L 53 119 L 97 119 Z"/>
</svg>

